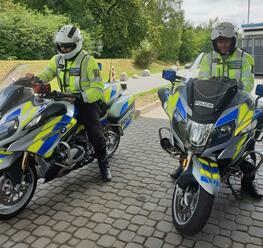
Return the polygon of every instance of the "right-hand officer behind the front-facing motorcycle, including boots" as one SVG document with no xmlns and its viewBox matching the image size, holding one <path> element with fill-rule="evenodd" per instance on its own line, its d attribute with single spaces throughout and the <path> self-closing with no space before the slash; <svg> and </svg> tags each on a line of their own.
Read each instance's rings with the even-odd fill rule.
<svg viewBox="0 0 263 248">
<path fill-rule="evenodd" d="M 241 89 L 251 92 L 254 87 L 254 60 L 250 54 L 237 47 L 235 26 L 229 22 L 218 23 L 212 30 L 211 40 L 214 51 L 203 57 L 199 78 L 204 80 L 211 77 L 237 79 Z M 240 167 L 243 172 L 242 190 L 254 198 L 262 198 L 263 195 L 257 192 L 253 183 L 255 175 L 251 175 L 254 162 L 246 160 Z M 181 172 L 182 168 L 179 167 L 170 176 L 177 179 Z"/>
</svg>

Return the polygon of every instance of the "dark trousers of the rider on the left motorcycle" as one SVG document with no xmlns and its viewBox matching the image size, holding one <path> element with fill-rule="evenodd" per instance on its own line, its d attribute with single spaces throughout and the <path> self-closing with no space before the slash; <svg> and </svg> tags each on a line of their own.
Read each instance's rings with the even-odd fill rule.
<svg viewBox="0 0 263 248">
<path fill-rule="evenodd" d="M 88 138 L 94 146 L 98 160 L 106 157 L 106 140 L 103 134 L 103 127 L 100 123 L 100 105 L 95 103 L 77 102 L 76 107 L 79 111 L 79 121 L 84 125 Z"/>
</svg>

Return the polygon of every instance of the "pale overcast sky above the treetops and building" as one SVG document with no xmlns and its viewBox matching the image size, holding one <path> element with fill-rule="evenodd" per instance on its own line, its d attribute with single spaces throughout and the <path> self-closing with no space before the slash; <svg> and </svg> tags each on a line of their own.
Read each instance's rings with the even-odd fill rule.
<svg viewBox="0 0 263 248">
<path fill-rule="evenodd" d="M 248 0 L 183 0 L 186 20 L 194 25 L 209 19 L 231 21 L 235 25 L 247 23 Z M 250 23 L 263 22 L 263 0 L 250 0 Z"/>
</svg>

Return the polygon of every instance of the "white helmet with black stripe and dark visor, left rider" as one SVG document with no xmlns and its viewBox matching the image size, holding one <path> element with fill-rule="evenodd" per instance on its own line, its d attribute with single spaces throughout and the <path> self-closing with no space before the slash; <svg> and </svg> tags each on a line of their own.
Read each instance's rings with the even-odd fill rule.
<svg viewBox="0 0 263 248">
<path fill-rule="evenodd" d="M 73 58 L 82 49 L 83 38 L 79 28 L 73 25 L 62 27 L 55 35 L 54 39 L 58 53 L 65 59 Z M 70 52 L 65 53 L 61 47 L 72 48 Z"/>
</svg>

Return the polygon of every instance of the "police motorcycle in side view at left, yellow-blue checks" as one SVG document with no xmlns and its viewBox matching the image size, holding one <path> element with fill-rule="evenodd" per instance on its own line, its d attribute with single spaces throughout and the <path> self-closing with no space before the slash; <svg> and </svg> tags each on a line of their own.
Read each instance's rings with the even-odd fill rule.
<svg viewBox="0 0 263 248">
<path fill-rule="evenodd" d="M 23 74 L 24 75 L 24 74 Z M 0 219 L 20 213 L 45 182 L 90 164 L 94 149 L 77 121 L 77 96 L 51 92 L 50 84 L 19 78 L 0 91 Z M 111 157 L 134 118 L 125 84 L 105 84 L 101 122 Z"/>
</svg>

